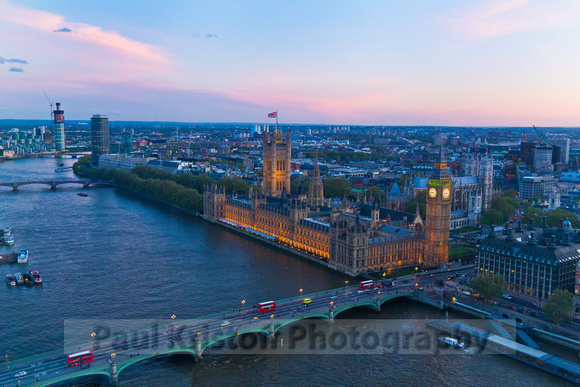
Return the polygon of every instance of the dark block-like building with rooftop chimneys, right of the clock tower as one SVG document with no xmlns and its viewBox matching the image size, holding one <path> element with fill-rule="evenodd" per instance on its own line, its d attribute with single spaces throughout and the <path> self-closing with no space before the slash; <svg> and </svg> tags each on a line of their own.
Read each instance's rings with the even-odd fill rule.
<svg viewBox="0 0 580 387">
<path fill-rule="evenodd" d="M 576 268 L 580 260 L 580 233 L 570 221 L 561 228 L 518 226 L 505 235 L 490 235 L 478 248 L 479 275 L 499 274 L 508 289 L 545 299 L 556 289 L 574 292 Z"/>
</svg>

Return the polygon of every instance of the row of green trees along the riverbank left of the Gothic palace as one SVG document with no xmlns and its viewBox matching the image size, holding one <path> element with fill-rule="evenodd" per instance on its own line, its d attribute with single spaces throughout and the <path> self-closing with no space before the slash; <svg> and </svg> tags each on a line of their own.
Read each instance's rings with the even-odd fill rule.
<svg viewBox="0 0 580 387">
<path fill-rule="evenodd" d="M 76 174 L 92 179 L 110 180 L 118 187 L 136 191 L 193 212 L 203 212 L 203 187 L 215 184 L 208 175 L 194 176 L 190 173 L 175 175 L 148 166 L 139 166 L 131 172 L 108 168 L 91 168 L 90 156 L 79 159 L 73 170 Z M 247 194 L 249 185 L 239 178 L 223 178 L 219 181 L 226 192 Z"/>
</svg>

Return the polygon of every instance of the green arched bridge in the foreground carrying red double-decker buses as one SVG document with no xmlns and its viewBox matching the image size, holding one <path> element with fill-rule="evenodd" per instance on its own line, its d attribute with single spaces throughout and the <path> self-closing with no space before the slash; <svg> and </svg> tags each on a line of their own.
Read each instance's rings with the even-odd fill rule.
<svg viewBox="0 0 580 387">
<path fill-rule="evenodd" d="M 302 295 L 276 301 L 275 310 L 263 313 L 254 306 L 194 320 L 165 320 L 153 327 L 132 330 L 131 334 L 123 335 L 124 339 L 114 337 L 115 333 L 108 336 L 90 333 L 96 328 L 89 322 L 80 329 L 80 336 L 86 338 L 82 339 L 83 345 L 75 343 L 74 347 L 68 346 L 64 351 L 39 354 L 7 364 L 0 368 L 0 385 L 17 382 L 48 386 L 81 377 L 100 377 L 116 384 L 119 374 L 135 363 L 178 354 L 191 355 L 199 361 L 206 349 L 215 348 L 220 343 L 223 345 L 228 340 L 241 341 L 249 336 L 259 336 L 264 341 L 275 341 L 280 329 L 285 326 L 292 329 L 304 319 L 332 322 L 340 313 L 357 307 L 380 311 L 383 303 L 399 297 L 442 308 L 442 302 L 430 299 L 420 288 L 423 283 L 430 282 L 420 278 L 417 281 L 412 284 L 397 281 L 399 284 L 389 288 L 366 291 L 350 286 Z M 65 339 L 66 335 L 65 326 Z M 93 361 L 67 368 L 67 355 L 84 351 L 92 351 Z"/>
</svg>

